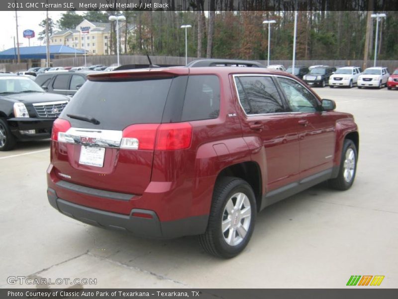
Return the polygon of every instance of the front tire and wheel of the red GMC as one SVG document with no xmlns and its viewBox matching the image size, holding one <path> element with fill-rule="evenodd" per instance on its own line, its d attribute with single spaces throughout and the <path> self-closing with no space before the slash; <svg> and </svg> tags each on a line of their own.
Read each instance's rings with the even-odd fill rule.
<svg viewBox="0 0 398 299">
<path fill-rule="evenodd" d="M 357 172 L 358 151 L 350 139 L 344 140 L 341 152 L 340 169 L 336 178 L 329 179 L 329 185 L 333 189 L 347 190 L 354 183 Z"/>
</svg>

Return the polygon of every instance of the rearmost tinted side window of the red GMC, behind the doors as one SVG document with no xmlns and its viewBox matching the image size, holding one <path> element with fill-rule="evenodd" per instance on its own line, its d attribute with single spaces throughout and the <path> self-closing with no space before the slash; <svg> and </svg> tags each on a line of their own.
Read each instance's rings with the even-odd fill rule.
<svg viewBox="0 0 398 299">
<path fill-rule="evenodd" d="M 188 78 L 181 120 L 199 121 L 218 117 L 220 82 L 215 75 L 191 75 Z"/>
</svg>

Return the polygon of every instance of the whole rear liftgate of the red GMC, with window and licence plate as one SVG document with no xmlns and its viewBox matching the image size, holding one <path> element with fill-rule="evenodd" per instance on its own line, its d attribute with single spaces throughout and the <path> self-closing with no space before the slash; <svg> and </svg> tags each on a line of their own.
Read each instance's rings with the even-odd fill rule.
<svg viewBox="0 0 398 299">
<path fill-rule="evenodd" d="M 103 190 L 142 194 L 151 179 L 154 150 L 140 148 L 151 142 L 149 134 L 162 122 L 172 80 L 87 81 L 60 116 L 72 126 L 66 132 L 66 142 L 54 142 L 53 146 L 52 161 L 56 172 L 62 174 L 60 178 Z M 76 119 L 79 116 L 96 122 Z M 120 147 L 121 139 L 131 137 L 129 134 L 137 138 L 138 149 Z M 129 138 L 132 146 L 134 138 Z"/>
</svg>

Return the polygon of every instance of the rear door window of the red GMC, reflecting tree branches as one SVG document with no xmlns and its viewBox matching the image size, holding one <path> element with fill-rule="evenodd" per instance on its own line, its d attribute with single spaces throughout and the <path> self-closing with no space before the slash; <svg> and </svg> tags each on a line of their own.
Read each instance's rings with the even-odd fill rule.
<svg viewBox="0 0 398 299">
<path fill-rule="evenodd" d="M 235 78 L 239 101 L 246 114 L 285 112 L 281 97 L 271 77 Z"/>
</svg>

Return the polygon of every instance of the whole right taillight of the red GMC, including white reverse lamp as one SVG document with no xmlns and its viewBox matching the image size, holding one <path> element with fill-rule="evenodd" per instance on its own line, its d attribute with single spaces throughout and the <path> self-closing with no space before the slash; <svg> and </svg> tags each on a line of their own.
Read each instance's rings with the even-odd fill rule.
<svg viewBox="0 0 398 299">
<path fill-rule="evenodd" d="M 121 149 L 177 150 L 191 146 L 189 123 L 139 124 L 123 130 Z"/>
</svg>

